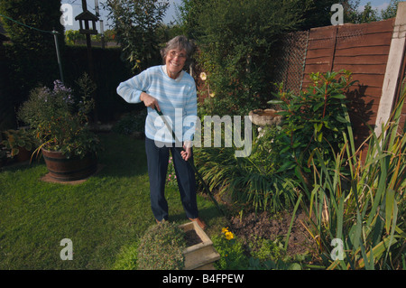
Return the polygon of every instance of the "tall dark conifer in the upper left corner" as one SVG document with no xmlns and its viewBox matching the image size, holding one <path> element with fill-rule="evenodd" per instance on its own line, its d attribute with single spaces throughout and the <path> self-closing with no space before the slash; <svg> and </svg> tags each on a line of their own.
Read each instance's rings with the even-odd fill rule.
<svg viewBox="0 0 406 288">
<path fill-rule="evenodd" d="M 0 14 L 6 16 L 0 16 L 0 21 L 12 41 L 12 45 L 5 47 L 9 69 L 5 88 L 13 99 L 14 110 L 39 82 L 51 85 L 60 77 L 51 33 L 52 30 L 59 33 L 60 51 L 63 52 L 60 0 L 1 0 Z"/>
</svg>

